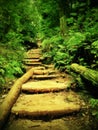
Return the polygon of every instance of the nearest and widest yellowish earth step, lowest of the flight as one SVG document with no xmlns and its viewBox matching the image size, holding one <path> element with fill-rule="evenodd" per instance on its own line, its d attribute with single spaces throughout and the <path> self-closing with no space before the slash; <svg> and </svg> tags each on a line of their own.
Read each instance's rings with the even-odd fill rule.
<svg viewBox="0 0 98 130">
<path fill-rule="evenodd" d="M 80 99 L 73 92 L 20 95 L 11 109 L 19 116 L 58 116 L 79 111 Z"/>
</svg>

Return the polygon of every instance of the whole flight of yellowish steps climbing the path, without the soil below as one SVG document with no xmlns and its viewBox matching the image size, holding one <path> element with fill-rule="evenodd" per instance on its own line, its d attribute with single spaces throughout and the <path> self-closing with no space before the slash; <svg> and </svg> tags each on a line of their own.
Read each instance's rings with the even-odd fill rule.
<svg viewBox="0 0 98 130">
<path fill-rule="evenodd" d="M 79 96 L 67 91 L 72 80 L 52 64 L 43 64 L 40 49 L 29 50 L 23 62 L 27 71 L 33 68 L 34 72 L 31 79 L 22 85 L 21 95 L 11 109 L 13 115 L 30 118 L 59 116 L 81 109 Z"/>
</svg>

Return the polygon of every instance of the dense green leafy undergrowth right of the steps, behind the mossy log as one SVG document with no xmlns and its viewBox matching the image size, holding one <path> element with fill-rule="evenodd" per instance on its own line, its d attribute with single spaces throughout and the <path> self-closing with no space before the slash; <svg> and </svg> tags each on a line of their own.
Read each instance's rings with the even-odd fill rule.
<svg viewBox="0 0 98 130">
<path fill-rule="evenodd" d="M 68 33 L 62 37 L 60 33 L 48 36 L 42 41 L 43 56 L 53 62 L 61 71 L 70 72 L 70 65 L 78 63 L 90 69 L 98 70 L 98 9 L 92 8 L 81 14 L 71 14 L 67 19 Z M 83 81 L 76 76 L 79 87 Z M 79 80 L 78 80 L 79 79 Z M 92 115 L 98 118 L 98 99 L 91 99 Z"/>
</svg>

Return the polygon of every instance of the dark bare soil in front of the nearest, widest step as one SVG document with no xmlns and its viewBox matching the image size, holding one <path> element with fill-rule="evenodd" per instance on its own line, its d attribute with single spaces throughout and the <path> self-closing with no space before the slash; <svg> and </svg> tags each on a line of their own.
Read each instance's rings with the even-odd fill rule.
<svg viewBox="0 0 98 130">
<path fill-rule="evenodd" d="M 56 119 L 44 117 L 43 120 L 11 118 L 4 130 L 98 130 L 88 113 L 75 113 Z"/>
</svg>

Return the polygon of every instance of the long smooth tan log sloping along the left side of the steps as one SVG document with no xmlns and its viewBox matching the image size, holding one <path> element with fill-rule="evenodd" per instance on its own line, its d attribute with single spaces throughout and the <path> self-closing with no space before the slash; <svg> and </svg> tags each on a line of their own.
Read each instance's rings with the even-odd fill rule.
<svg viewBox="0 0 98 130">
<path fill-rule="evenodd" d="M 0 105 L 0 129 L 3 127 L 13 104 L 16 102 L 20 94 L 22 84 L 25 83 L 33 75 L 33 71 L 34 68 L 30 69 L 15 82 L 4 102 Z"/>
</svg>

